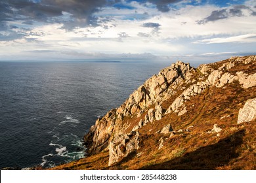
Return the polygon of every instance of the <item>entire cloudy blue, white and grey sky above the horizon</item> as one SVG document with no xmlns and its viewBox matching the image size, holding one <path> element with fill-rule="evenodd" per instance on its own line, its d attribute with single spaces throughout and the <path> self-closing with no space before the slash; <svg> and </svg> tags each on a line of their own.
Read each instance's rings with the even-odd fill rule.
<svg viewBox="0 0 256 183">
<path fill-rule="evenodd" d="M 255 0 L 0 1 L 0 60 L 210 62 L 255 48 Z"/>
</svg>

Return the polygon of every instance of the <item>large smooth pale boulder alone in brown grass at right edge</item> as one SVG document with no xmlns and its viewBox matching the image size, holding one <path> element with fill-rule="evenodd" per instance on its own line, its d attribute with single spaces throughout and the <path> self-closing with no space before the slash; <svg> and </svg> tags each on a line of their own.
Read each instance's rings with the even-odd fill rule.
<svg viewBox="0 0 256 183">
<path fill-rule="evenodd" d="M 256 98 L 249 99 L 245 102 L 243 108 L 238 112 L 238 124 L 250 122 L 256 119 Z"/>
</svg>

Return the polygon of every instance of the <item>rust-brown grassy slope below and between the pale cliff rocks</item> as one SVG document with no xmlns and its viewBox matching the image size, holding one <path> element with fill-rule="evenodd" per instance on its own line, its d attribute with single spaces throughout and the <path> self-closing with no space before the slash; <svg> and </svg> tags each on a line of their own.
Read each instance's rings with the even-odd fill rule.
<svg viewBox="0 0 256 183">
<path fill-rule="evenodd" d="M 213 67 L 217 69 L 223 63 L 215 63 Z M 229 73 L 244 71 L 252 74 L 255 67 L 252 63 L 236 65 Z M 198 78 L 197 75 L 194 77 Z M 167 109 L 181 92 L 165 101 L 163 108 Z M 256 169 L 256 121 L 237 124 L 239 108 L 247 99 L 255 97 L 256 87 L 245 90 L 238 82 L 226 84 L 224 88 L 210 87 L 185 103 L 186 114 L 167 114 L 160 121 L 139 129 L 140 149 L 116 165 L 108 167 L 108 152 L 101 152 L 54 169 Z M 223 116 L 226 117 L 221 119 Z M 125 122 L 131 123 L 133 128 L 140 118 L 126 118 Z M 172 137 L 156 133 L 169 123 L 175 130 L 193 127 L 190 132 Z M 219 137 L 217 133 L 207 133 L 214 124 L 223 129 Z M 161 137 L 165 142 L 158 150 Z"/>
</svg>

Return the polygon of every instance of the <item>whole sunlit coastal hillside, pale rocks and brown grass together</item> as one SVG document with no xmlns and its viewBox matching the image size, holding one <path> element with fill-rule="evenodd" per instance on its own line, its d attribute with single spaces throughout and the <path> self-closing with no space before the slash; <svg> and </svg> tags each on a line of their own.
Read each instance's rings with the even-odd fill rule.
<svg viewBox="0 0 256 183">
<path fill-rule="evenodd" d="M 256 169 L 256 56 L 162 69 L 53 169 Z"/>
</svg>

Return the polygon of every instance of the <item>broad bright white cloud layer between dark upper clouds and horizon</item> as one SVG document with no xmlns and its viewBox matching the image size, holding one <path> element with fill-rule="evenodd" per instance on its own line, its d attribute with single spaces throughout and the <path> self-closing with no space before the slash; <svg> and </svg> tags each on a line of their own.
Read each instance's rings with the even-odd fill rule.
<svg viewBox="0 0 256 183">
<path fill-rule="evenodd" d="M 64 53 L 73 53 L 69 54 L 72 55 L 71 58 L 86 58 L 88 55 L 97 58 L 108 54 L 116 56 L 122 53 L 145 52 L 157 56 L 181 56 L 191 53 L 216 56 L 222 51 L 236 53 L 238 46 L 232 47 L 234 44 L 256 44 L 256 16 L 252 16 L 249 9 L 242 9 L 244 16 L 230 16 L 198 24 L 198 20 L 207 18 L 211 12 L 221 8 L 214 5 L 186 5 L 179 10 L 163 13 L 151 3 L 146 6 L 132 1 L 127 5 L 135 9 L 118 10 L 106 7 L 95 12 L 94 15 L 99 16 L 100 25 L 97 27 L 77 28 L 72 31 L 62 29 L 63 24 L 30 27 L 32 30 L 27 31 L 28 35 L 22 39 L 0 41 L 0 56 L 25 56 L 25 53 L 33 50 L 53 50 L 54 52 L 49 52 L 48 55 L 52 58 L 60 57 Z M 245 5 L 253 8 L 255 1 L 247 1 Z M 159 26 L 158 29 L 143 27 L 145 23 Z M 120 34 L 126 36 L 120 37 Z M 226 43 L 230 46 L 211 46 L 213 43 Z M 248 46 L 245 46 L 244 50 L 247 48 Z M 249 49 L 249 52 L 254 51 L 253 48 Z M 44 54 L 42 52 L 40 56 L 43 57 Z M 65 58 L 66 55 L 62 57 Z"/>
</svg>

